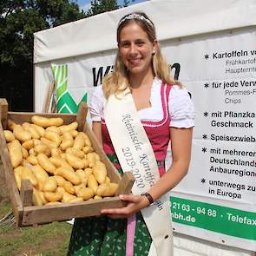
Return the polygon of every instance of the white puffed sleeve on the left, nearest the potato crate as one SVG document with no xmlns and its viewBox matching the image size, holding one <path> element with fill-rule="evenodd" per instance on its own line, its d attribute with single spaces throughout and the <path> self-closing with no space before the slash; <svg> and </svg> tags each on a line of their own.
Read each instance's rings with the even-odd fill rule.
<svg viewBox="0 0 256 256">
<path fill-rule="evenodd" d="M 89 99 L 89 113 L 92 121 L 101 121 L 104 101 L 105 97 L 101 85 L 94 89 Z"/>
</svg>

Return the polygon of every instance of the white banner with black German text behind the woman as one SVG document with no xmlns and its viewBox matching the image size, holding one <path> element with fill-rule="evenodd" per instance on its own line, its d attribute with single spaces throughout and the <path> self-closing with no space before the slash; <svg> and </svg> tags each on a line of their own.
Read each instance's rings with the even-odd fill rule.
<svg viewBox="0 0 256 256">
<path fill-rule="evenodd" d="M 255 45 L 250 27 L 161 42 L 196 111 L 189 172 L 170 197 L 174 231 L 251 251 L 256 251 Z M 60 74 L 55 67 L 67 70 L 56 83 L 59 111 L 75 113 L 79 102 L 89 101 L 114 62 L 115 50 L 52 62 L 48 74 L 55 81 Z"/>
</svg>

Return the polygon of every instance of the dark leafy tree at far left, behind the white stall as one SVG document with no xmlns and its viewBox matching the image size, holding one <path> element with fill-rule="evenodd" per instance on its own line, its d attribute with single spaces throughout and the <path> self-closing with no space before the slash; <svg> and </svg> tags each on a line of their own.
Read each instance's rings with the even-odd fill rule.
<svg viewBox="0 0 256 256">
<path fill-rule="evenodd" d="M 33 33 L 85 17 L 69 0 L 2 0 L 0 97 L 13 111 L 33 109 Z"/>
</svg>

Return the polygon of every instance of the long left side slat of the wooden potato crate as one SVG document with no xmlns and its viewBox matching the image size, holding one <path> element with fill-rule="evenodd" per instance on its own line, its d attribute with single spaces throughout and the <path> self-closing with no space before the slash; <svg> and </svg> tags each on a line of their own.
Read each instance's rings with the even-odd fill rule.
<svg viewBox="0 0 256 256">
<path fill-rule="evenodd" d="M 6 179 L 6 185 L 9 192 L 10 202 L 13 208 L 14 215 L 16 216 L 16 223 L 22 221 L 23 204 L 20 199 L 19 192 L 16 187 L 16 180 L 13 173 L 13 167 L 10 163 L 10 156 L 8 153 L 6 141 L 3 135 L 3 127 L 0 122 L 0 154 L 3 162 L 3 170 Z"/>
</svg>

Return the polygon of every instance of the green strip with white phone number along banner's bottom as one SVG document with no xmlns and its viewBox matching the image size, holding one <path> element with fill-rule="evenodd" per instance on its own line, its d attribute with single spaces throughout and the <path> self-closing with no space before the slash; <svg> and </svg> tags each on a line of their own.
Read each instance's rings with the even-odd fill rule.
<svg viewBox="0 0 256 256">
<path fill-rule="evenodd" d="M 256 241 L 256 213 L 170 197 L 174 222 Z"/>
</svg>

